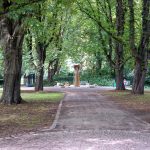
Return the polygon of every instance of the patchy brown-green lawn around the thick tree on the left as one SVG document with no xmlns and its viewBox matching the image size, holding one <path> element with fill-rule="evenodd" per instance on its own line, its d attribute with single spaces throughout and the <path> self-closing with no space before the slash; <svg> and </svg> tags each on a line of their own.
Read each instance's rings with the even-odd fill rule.
<svg viewBox="0 0 150 150">
<path fill-rule="evenodd" d="M 23 92 L 21 95 L 25 100 L 23 104 L 0 104 L 0 137 L 49 128 L 64 97 L 62 93 L 45 92 Z"/>
</svg>

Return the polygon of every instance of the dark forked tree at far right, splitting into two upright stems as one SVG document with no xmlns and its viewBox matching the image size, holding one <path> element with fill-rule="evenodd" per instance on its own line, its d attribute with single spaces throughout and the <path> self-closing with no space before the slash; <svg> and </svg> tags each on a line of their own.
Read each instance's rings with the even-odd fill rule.
<svg viewBox="0 0 150 150">
<path fill-rule="evenodd" d="M 134 1 L 129 0 L 130 11 L 130 49 L 135 58 L 134 81 L 132 92 L 144 94 L 144 82 L 148 63 L 148 46 L 150 41 L 150 1 L 142 0 L 142 33 L 140 43 L 135 44 L 135 8 Z"/>
</svg>

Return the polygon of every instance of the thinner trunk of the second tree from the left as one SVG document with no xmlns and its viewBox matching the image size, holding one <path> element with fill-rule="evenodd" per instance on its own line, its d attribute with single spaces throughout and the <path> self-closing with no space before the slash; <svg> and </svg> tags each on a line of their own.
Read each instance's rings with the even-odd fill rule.
<svg viewBox="0 0 150 150">
<path fill-rule="evenodd" d="M 46 48 L 44 44 L 37 43 L 37 72 L 36 72 L 36 82 L 35 91 L 43 91 L 43 76 L 44 76 L 44 62 L 46 58 Z"/>
</svg>

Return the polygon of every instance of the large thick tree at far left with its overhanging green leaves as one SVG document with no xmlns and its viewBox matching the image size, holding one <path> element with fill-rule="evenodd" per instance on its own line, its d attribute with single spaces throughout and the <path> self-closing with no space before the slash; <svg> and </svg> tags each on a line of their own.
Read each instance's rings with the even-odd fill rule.
<svg viewBox="0 0 150 150">
<path fill-rule="evenodd" d="M 0 45 L 4 53 L 4 86 L 1 98 L 3 103 L 21 103 L 20 80 L 22 44 L 25 35 L 24 19 L 33 13 L 34 4 L 39 1 L 3 0 L 0 2 Z"/>
</svg>

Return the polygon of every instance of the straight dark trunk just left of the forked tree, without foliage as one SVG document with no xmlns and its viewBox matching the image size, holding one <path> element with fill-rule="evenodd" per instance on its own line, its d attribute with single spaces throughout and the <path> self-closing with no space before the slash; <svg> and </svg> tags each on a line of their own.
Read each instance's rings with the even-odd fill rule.
<svg viewBox="0 0 150 150">
<path fill-rule="evenodd" d="M 122 37 L 124 34 L 124 6 L 122 0 L 117 0 L 116 6 L 116 29 L 117 36 Z M 116 90 L 125 90 L 124 86 L 124 48 L 123 44 L 116 41 Z"/>
</svg>

